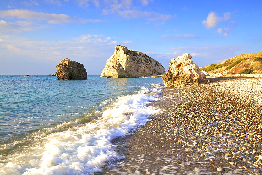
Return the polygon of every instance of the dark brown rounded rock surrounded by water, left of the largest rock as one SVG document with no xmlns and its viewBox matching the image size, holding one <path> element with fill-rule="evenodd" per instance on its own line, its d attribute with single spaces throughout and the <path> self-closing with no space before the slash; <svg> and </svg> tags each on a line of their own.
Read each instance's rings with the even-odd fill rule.
<svg viewBox="0 0 262 175">
<path fill-rule="evenodd" d="M 60 61 L 60 63 L 56 65 L 56 68 L 56 76 L 58 80 L 83 80 L 87 78 L 87 73 L 83 64 L 80 64 L 76 61 L 71 61 L 68 58 Z"/>
</svg>

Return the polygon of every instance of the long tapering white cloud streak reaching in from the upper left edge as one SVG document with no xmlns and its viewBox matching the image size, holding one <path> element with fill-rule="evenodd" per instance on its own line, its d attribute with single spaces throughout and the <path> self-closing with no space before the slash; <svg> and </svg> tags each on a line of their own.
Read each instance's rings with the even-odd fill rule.
<svg viewBox="0 0 262 175">
<path fill-rule="evenodd" d="M 32 12 L 29 10 L 2 10 L 0 11 L 0 17 L 4 18 L 18 18 L 26 20 L 42 20 L 47 21 L 51 24 L 63 24 L 63 23 L 87 23 L 87 22 L 99 22 L 102 20 L 93 20 L 93 19 L 80 19 L 75 17 L 70 17 L 65 14 L 48 14 L 48 13 L 39 13 Z"/>
</svg>

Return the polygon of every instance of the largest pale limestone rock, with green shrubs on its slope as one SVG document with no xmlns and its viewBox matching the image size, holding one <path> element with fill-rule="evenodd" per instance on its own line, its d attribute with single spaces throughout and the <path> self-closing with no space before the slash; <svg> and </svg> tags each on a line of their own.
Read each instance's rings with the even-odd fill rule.
<svg viewBox="0 0 262 175">
<path fill-rule="evenodd" d="M 165 68 L 155 59 L 138 51 L 117 45 L 114 54 L 107 59 L 102 77 L 145 77 L 162 75 Z"/>
</svg>

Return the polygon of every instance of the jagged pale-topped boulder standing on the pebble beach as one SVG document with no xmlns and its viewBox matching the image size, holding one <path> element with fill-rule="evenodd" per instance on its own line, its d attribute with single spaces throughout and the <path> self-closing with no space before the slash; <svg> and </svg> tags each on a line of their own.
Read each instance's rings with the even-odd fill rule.
<svg viewBox="0 0 262 175">
<path fill-rule="evenodd" d="M 167 87 L 184 87 L 209 83 L 206 75 L 199 71 L 198 65 L 191 60 L 190 53 L 172 59 L 168 71 L 162 78 Z"/>
</svg>

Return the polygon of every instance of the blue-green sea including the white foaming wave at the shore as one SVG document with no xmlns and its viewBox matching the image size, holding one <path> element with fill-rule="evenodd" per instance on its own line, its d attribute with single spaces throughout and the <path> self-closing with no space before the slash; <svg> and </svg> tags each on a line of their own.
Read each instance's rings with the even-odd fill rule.
<svg viewBox="0 0 262 175">
<path fill-rule="evenodd" d="M 0 174 L 93 174 L 159 109 L 162 78 L 0 75 Z"/>
</svg>

